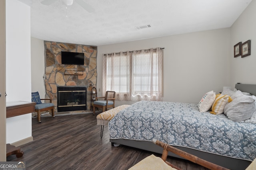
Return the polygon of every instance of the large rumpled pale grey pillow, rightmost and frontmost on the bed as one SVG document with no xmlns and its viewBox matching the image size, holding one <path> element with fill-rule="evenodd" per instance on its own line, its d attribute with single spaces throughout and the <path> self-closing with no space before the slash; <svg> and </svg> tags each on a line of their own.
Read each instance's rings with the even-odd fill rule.
<svg viewBox="0 0 256 170">
<path fill-rule="evenodd" d="M 232 121 L 245 121 L 250 119 L 256 109 L 256 97 L 242 95 L 233 99 L 224 107 L 224 114 Z"/>
</svg>

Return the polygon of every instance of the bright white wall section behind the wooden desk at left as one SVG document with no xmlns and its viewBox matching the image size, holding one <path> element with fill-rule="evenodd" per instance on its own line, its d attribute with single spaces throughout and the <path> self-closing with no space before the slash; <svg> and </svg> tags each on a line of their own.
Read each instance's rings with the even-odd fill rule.
<svg viewBox="0 0 256 170">
<path fill-rule="evenodd" d="M 31 101 L 30 7 L 6 0 L 6 102 Z M 31 113 L 6 119 L 6 143 L 32 137 Z"/>
</svg>

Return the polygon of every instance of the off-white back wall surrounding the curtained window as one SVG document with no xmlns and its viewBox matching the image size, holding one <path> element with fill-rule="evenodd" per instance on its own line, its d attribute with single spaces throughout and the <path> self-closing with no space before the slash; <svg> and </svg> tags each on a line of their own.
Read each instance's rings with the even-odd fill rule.
<svg viewBox="0 0 256 170">
<path fill-rule="evenodd" d="M 97 89 L 102 88 L 102 54 L 164 47 L 164 101 L 198 103 L 230 83 L 230 28 L 98 46 Z M 120 104 L 132 102 L 116 102 Z"/>
</svg>

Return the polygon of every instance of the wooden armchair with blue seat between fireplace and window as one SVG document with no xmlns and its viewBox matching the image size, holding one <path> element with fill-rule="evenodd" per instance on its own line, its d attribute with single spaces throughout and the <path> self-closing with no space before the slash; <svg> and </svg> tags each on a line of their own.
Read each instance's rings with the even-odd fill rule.
<svg viewBox="0 0 256 170">
<path fill-rule="evenodd" d="M 104 100 L 98 100 L 104 99 Z M 95 107 L 102 108 L 102 112 L 106 111 L 108 107 L 115 107 L 116 92 L 106 91 L 105 97 L 96 97 L 96 101 L 93 102 L 93 114 L 95 114 Z"/>
</svg>

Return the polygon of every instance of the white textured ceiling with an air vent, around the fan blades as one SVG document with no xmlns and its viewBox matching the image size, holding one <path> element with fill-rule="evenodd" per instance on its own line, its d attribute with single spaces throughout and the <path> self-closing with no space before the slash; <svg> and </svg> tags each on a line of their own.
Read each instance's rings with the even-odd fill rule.
<svg viewBox="0 0 256 170">
<path fill-rule="evenodd" d="M 252 0 L 82 0 L 94 12 L 76 0 L 67 10 L 62 0 L 20 1 L 31 7 L 32 37 L 98 46 L 230 27 Z"/>
</svg>

